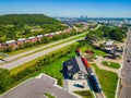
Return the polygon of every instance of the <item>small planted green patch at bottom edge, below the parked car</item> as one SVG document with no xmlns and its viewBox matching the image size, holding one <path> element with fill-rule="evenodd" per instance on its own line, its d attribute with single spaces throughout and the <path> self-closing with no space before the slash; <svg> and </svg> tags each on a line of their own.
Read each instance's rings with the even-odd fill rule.
<svg viewBox="0 0 131 98">
<path fill-rule="evenodd" d="M 91 90 L 74 91 L 74 93 L 82 96 L 83 98 L 94 98 L 93 93 Z"/>
</svg>

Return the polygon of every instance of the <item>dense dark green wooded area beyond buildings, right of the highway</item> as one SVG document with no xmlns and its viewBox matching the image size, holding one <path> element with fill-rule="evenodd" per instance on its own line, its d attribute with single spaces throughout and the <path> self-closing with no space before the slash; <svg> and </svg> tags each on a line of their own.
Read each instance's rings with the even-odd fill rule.
<svg viewBox="0 0 131 98">
<path fill-rule="evenodd" d="M 86 40 L 92 41 L 97 38 L 107 38 L 107 39 L 114 39 L 118 41 L 122 41 L 126 37 L 126 33 L 128 32 L 127 27 L 109 27 L 109 26 L 102 26 L 96 30 L 91 30 L 86 35 Z"/>
</svg>

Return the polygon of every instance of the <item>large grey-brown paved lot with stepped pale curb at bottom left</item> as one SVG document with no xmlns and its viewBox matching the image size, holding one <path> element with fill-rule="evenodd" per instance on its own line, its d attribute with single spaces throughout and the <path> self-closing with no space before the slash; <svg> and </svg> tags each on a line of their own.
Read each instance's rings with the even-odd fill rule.
<svg viewBox="0 0 131 98">
<path fill-rule="evenodd" d="M 68 93 L 56 84 L 55 78 L 41 75 L 40 78 L 29 78 L 25 81 L 3 94 L 0 98 L 47 98 L 45 96 L 46 93 L 50 93 L 56 98 L 80 98 L 80 96 Z"/>
</svg>

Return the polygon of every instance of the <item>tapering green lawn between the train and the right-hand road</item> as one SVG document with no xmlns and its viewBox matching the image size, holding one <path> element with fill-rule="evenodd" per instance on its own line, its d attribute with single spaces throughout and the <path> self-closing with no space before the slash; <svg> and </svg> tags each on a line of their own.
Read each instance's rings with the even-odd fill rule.
<svg viewBox="0 0 131 98">
<path fill-rule="evenodd" d="M 100 82 L 104 94 L 107 96 L 107 98 L 115 98 L 118 74 L 110 71 L 100 70 L 95 63 L 92 65 L 95 68 L 95 72 Z"/>
</svg>

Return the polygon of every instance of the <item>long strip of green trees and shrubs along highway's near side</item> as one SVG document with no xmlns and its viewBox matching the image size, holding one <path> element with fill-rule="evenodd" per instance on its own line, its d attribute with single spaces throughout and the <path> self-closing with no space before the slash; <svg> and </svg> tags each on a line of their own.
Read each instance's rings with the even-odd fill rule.
<svg viewBox="0 0 131 98">
<path fill-rule="evenodd" d="M 57 59 L 60 59 L 66 54 L 72 52 L 74 49 L 81 47 L 82 45 L 83 44 L 70 45 L 63 49 L 60 49 L 59 51 L 47 54 L 43 59 L 34 63 L 32 66 L 28 66 L 14 75 L 11 75 L 10 71 L 8 70 L 0 69 L 0 93 L 8 90 L 10 87 L 35 72 L 40 73 L 46 65 L 49 65 Z M 62 85 L 61 78 L 58 78 L 58 84 Z"/>
</svg>

